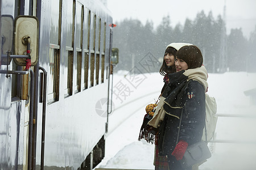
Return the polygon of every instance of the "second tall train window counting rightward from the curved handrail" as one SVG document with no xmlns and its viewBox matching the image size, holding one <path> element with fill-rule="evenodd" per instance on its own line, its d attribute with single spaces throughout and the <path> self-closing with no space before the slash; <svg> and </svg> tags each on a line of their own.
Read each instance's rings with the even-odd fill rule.
<svg viewBox="0 0 256 170">
<path fill-rule="evenodd" d="M 73 32 L 74 32 L 74 14 L 75 14 L 75 1 L 67 1 L 67 18 L 66 18 L 66 23 L 67 23 L 67 35 L 65 41 L 66 43 L 66 52 L 63 54 L 63 60 L 65 63 L 64 67 L 64 96 L 70 96 L 72 95 L 72 86 L 73 86 Z"/>
</svg>

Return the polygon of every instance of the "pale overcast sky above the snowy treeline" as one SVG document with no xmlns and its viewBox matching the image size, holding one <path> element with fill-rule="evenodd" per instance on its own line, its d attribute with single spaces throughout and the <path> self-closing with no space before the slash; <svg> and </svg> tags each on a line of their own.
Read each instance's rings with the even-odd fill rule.
<svg viewBox="0 0 256 170">
<path fill-rule="evenodd" d="M 256 25 L 256 0 L 107 0 L 114 22 L 133 18 L 144 24 L 151 20 L 154 27 L 167 15 L 172 26 L 184 25 L 186 18 L 194 20 L 202 10 L 206 15 L 212 11 L 214 19 L 218 15 L 223 18 L 225 4 L 228 33 L 231 28 L 242 28 L 243 35 L 249 37 Z"/>
</svg>

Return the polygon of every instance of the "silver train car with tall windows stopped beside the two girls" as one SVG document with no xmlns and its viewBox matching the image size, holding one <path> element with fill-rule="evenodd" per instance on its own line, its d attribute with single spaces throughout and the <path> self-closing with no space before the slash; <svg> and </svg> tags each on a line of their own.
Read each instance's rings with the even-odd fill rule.
<svg viewBox="0 0 256 170">
<path fill-rule="evenodd" d="M 106 1 L 0 6 L 0 169 L 93 169 L 111 111 Z"/>
</svg>

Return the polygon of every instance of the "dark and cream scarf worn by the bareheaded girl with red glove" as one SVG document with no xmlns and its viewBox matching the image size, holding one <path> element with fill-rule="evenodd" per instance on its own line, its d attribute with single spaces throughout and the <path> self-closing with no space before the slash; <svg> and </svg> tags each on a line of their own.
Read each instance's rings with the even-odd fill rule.
<svg viewBox="0 0 256 170">
<path fill-rule="evenodd" d="M 180 115 L 175 115 L 168 111 L 170 111 L 170 108 L 182 108 L 184 106 L 182 97 L 188 86 L 188 83 L 192 80 L 196 80 L 203 84 L 205 92 L 207 92 L 207 78 L 208 74 L 204 66 L 198 67 L 196 69 L 182 70 L 177 73 L 169 74 L 170 83 L 164 90 L 163 95 L 158 103 L 158 107 L 156 108 L 155 114 L 152 119 L 148 121 L 147 125 L 154 128 L 159 128 L 165 114 L 170 114 L 171 116 L 180 118 Z"/>
</svg>

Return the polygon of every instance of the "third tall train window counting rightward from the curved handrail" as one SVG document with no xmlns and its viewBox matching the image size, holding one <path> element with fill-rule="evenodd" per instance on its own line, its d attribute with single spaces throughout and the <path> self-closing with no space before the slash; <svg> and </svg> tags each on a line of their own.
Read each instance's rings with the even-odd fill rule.
<svg viewBox="0 0 256 170">
<path fill-rule="evenodd" d="M 81 3 L 76 4 L 76 28 L 75 28 L 75 41 L 76 41 L 76 56 L 74 58 L 74 80 L 76 83 L 75 92 L 81 91 L 81 68 L 82 68 L 82 29 L 84 23 L 84 7 Z"/>
</svg>

